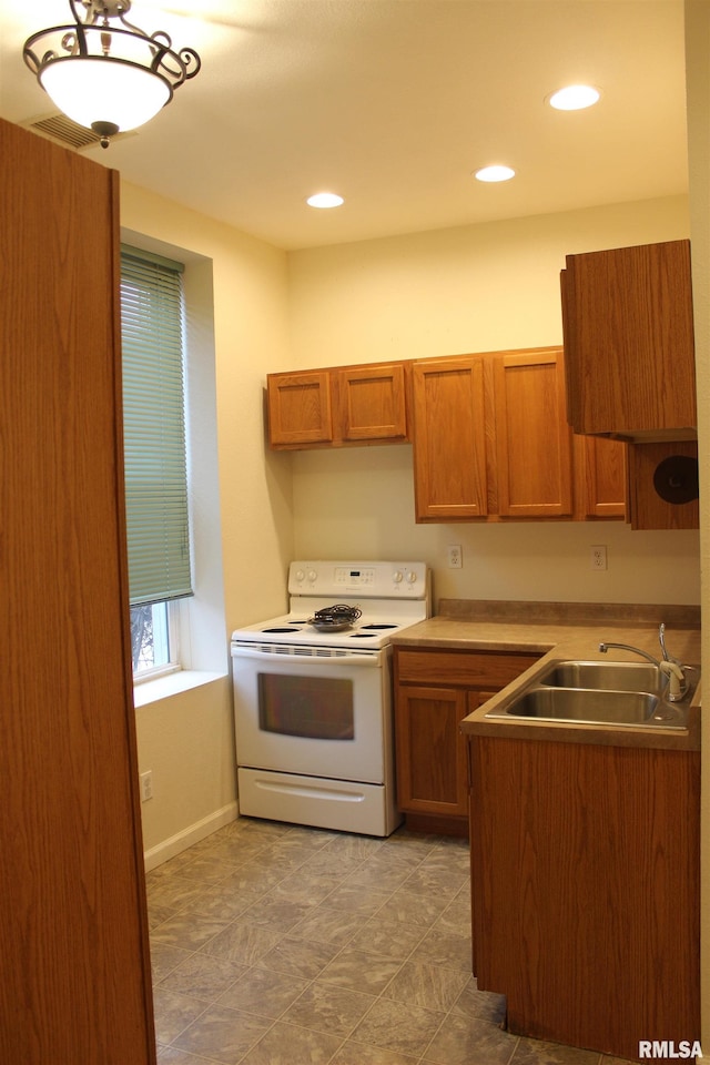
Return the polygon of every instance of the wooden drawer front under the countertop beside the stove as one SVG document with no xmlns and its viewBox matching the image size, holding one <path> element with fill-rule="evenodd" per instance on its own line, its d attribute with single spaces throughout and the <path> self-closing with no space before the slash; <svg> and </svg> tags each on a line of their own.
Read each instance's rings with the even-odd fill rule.
<svg viewBox="0 0 710 1065">
<path fill-rule="evenodd" d="M 402 682 L 505 688 L 541 656 L 511 651 L 427 651 L 395 649 L 396 676 Z"/>
</svg>

